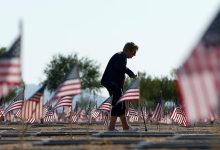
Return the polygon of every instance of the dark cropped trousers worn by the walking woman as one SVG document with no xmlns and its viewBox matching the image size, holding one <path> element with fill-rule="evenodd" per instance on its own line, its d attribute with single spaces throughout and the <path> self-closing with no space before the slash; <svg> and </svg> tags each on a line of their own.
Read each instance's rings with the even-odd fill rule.
<svg viewBox="0 0 220 150">
<path fill-rule="evenodd" d="M 116 84 L 110 84 L 105 86 L 109 92 L 109 95 L 112 96 L 112 111 L 111 116 L 121 116 L 125 114 L 125 102 L 116 104 L 121 96 L 123 95 L 122 88 Z"/>
</svg>

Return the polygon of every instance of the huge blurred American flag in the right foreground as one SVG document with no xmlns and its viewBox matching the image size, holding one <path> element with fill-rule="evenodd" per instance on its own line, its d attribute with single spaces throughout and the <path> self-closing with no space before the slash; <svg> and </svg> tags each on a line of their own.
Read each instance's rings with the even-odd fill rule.
<svg viewBox="0 0 220 150">
<path fill-rule="evenodd" d="M 220 94 L 220 12 L 177 71 L 180 99 L 189 122 L 218 110 Z"/>
</svg>

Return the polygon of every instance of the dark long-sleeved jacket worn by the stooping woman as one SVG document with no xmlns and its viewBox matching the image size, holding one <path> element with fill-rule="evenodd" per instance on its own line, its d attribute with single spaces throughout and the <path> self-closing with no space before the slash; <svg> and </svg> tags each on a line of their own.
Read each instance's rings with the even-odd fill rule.
<svg viewBox="0 0 220 150">
<path fill-rule="evenodd" d="M 101 84 L 108 87 L 113 83 L 122 88 L 125 80 L 125 73 L 129 77 L 134 76 L 134 73 L 127 68 L 126 65 L 127 58 L 122 52 L 114 54 L 107 64 L 101 79 Z"/>
</svg>

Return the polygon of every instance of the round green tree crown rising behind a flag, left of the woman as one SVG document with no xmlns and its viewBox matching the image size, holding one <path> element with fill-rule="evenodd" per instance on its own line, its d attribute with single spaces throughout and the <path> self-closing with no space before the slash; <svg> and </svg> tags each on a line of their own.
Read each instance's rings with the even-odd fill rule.
<svg viewBox="0 0 220 150">
<path fill-rule="evenodd" d="M 64 77 L 77 65 L 81 78 L 82 89 L 89 89 L 90 92 L 99 92 L 99 64 L 87 57 L 78 58 L 77 54 L 64 56 L 61 54 L 53 56 L 47 65 L 46 74 L 47 89 L 53 92 L 57 89 Z"/>
</svg>

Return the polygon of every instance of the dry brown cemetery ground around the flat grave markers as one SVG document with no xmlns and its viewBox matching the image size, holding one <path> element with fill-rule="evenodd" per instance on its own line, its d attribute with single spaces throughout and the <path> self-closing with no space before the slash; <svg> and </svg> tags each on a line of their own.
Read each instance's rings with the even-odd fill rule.
<svg viewBox="0 0 220 150">
<path fill-rule="evenodd" d="M 120 124 L 116 128 L 123 136 L 93 136 L 95 133 L 102 133 L 106 131 L 106 126 L 103 124 L 0 124 L 0 149 L 17 150 L 17 149 L 48 149 L 48 150 L 70 150 L 70 149 L 91 149 L 91 150 L 108 150 L 108 149 L 140 149 L 136 147 L 138 141 L 161 143 L 170 141 L 172 136 L 161 136 L 161 134 L 177 135 L 220 135 L 220 122 L 216 121 L 214 124 L 202 123 L 191 125 L 189 127 L 181 127 L 177 124 L 152 124 L 147 123 L 148 131 L 145 131 L 143 122 L 133 123 L 133 126 L 139 128 L 136 135 L 132 136 L 130 133 L 122 131 Z M 24 130 L 24 128 L 26 128 Z M 41 133 L 40 136 L 28 133 Z M 45 133 L 45 134 L 42 134 Z M 52 134 L 54 133 L 54 135 Z M 62 135 L 62 134 L 66 135 Z M 61 134 L 61 135 L 59 135 Z M 81 134 L 81 135 L 80 135 Z M 111 133 L 117 135 L 118 133 Z M 155 134 L 156 136 L 147 136 L 147 134 Z M 145 136 L 143 136 L 145 135 Z M 157 136 L 158 135 L 158 136 Z M 53 141 L 51 145 L 43 145 L 43 141 Z M 59 143 L 67 141 L 69 143 Z M 75 143 L 71 143 L 74 141 Z M 117 143 L 117 141 L 122 142 Z M 131 141 L 131 142 L 130 142 Z M 116 142 L 116 144 L 115 144 Z M 36 144 L 37 143 L 37 144 Z M 40 143 L 40 144 L 39 144 Z M 153 149 L 153 148 L 152 148 Z M 161 148 L 160 148 L 161 149 Z M 169 148 L 162 148 L 169 149 Z M 187 149 L 187 148 L 182 148 Z M 212 148 L 211 148 L 212 149 Z M 214 148 L 215 149 L 215 148 Z M 218 148 L 219 149 L 219 148 Z"/>
</svg>

